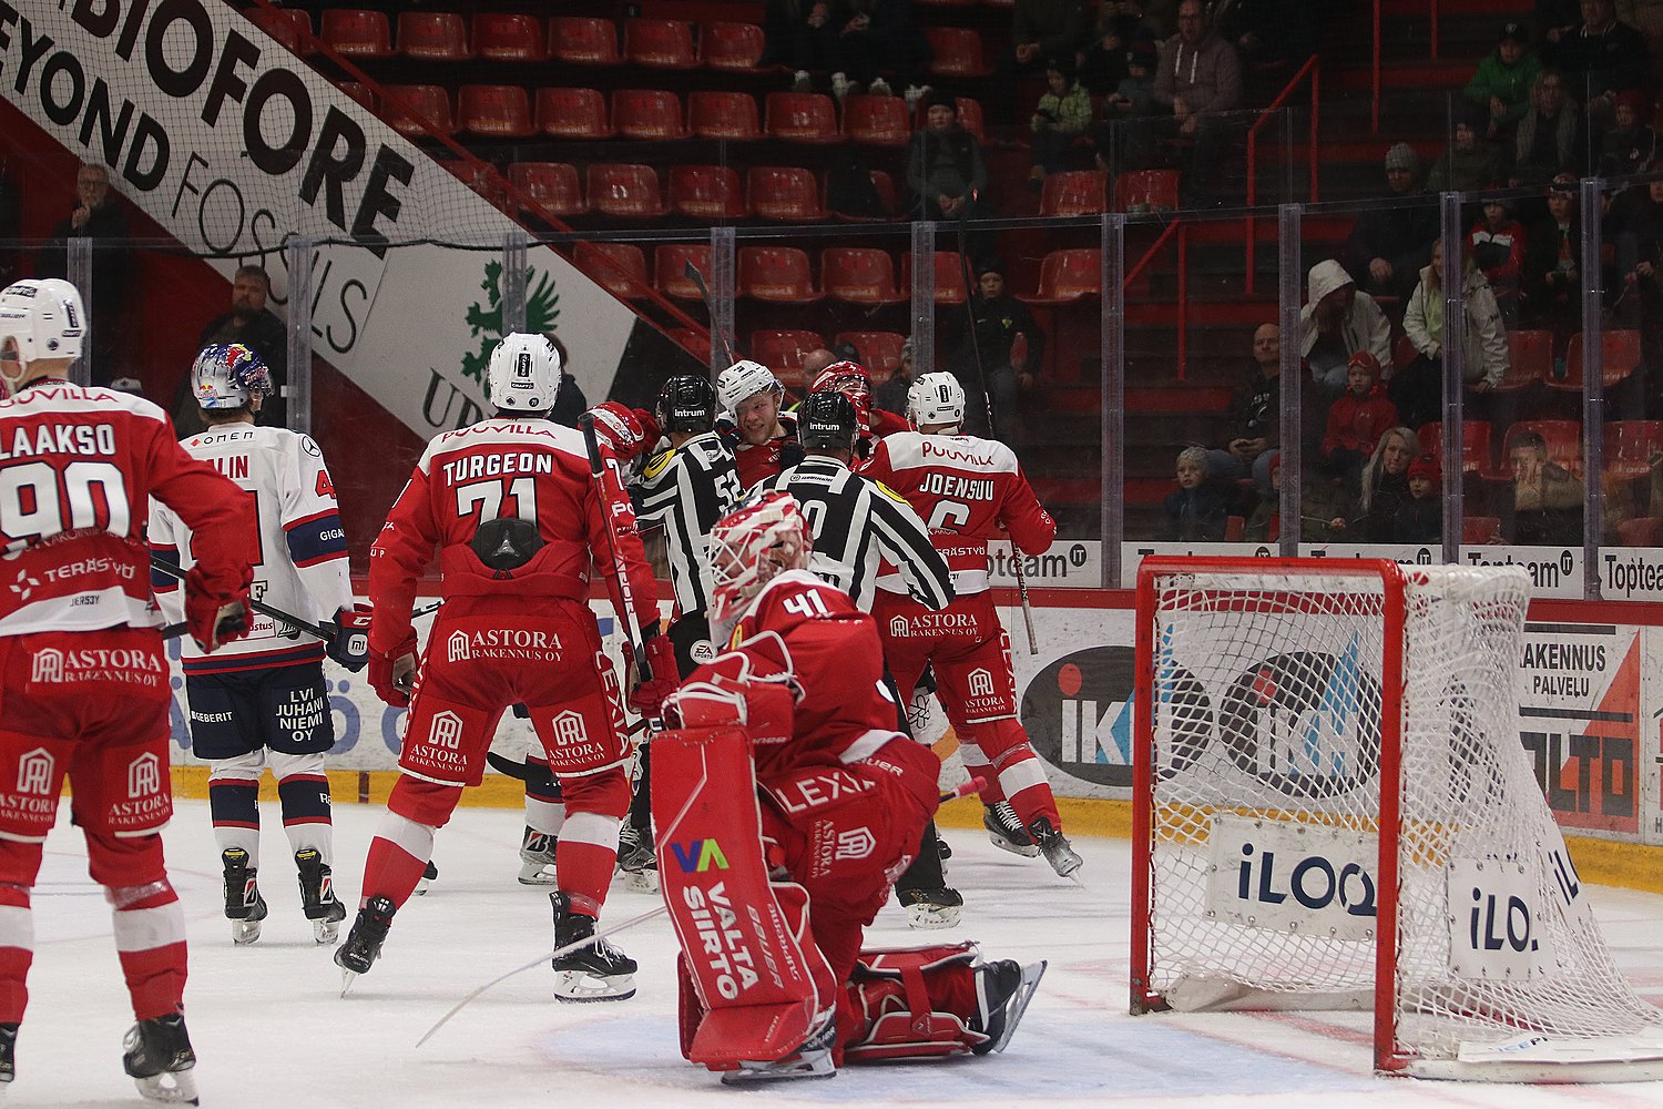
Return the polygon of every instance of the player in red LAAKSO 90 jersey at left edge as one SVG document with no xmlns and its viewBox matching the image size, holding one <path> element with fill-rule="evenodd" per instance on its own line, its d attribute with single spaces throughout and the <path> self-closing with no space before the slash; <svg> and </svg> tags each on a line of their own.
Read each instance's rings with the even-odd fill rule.
<svg viewBox="0 0 1663 1109">
<path fill-rule="evenodd" d="M 65 379 L 85 336 L 68 281 L 0 291 L 0 1091 L 28 1003 L 30 888 L 68 775 L 138 1021 L 123 1066 L 146 1097 L 195 1104 L 185 913 L 160 835 L 171 687 L 145 515 L 155 497 L 196 535 L 185 619 L 205 652 L 248 627 L 254 517 L 155 404 Z"/>
</svg>

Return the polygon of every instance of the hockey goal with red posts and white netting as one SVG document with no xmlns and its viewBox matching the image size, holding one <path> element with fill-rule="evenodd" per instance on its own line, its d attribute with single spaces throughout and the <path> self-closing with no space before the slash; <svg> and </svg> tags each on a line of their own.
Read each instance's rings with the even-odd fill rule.
<svg viewBox="0 0 1663 1109">
<path fill-rule="evenodd" d="M 1518 567 L 1147 559 L 1133 1013 L 1374 1009 L 1375 1067 L 1663 1077 L 1518 742 Z"/>
</svg>

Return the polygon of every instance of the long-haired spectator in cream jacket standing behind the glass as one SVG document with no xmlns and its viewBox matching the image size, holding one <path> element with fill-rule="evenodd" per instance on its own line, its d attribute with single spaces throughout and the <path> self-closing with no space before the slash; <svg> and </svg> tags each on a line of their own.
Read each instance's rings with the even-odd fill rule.
<svg viewBox="0 0 1663 1109">
<path fill-rule="evenodd" d="M 1495 306 L 1490 283 L 1473 263 L 1472 251 L 1462 258 L 1462 376 L 1473 392 L 1488 392 L 1507 374 L 1507 331 L 1502 309 Z M 1443 241 L 1432 243 L 1432 263 L 1420 271 L 1420 284 L 1404 309 L 1404 334 L 1415 347 L 1415 357 L 1392 377 L 1392 401 L 1407 427 L 1438 419 L 1443 411 L 1443 347 L 1448 338 L 1443 319 Z"/>
</svg>

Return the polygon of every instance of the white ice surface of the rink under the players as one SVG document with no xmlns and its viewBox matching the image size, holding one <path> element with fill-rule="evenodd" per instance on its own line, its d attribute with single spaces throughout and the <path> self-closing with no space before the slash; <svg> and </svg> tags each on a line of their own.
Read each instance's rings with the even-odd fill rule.
<svg viewBox="0 0 1663 1109">
<path fill-rule="evenodd" d="M 65 806 L 65 813 L 67 813 Z M 356 901 L 379 810 L 336 808 L 336 878 Z M 660 916 L 617 938 L 640 961 L 639 993 L 560 1004 L 549 971 L 512 978 L 416 1041 L 476 986 L 552 946 L 549 898 L 516 883 L 521 813 L 462 808 L 441 831 L 441 878 L 392 924 L 376 968 L 341 998 L 329 949 L 301 918 L 288 841 L 264 806 L 264 936 L 233 948 L 221 916 L 218 850 L 206 801 L 180 801 L 166 831 L 173 883 L 190 921 L 186 1018 L 203 1106 L 1663 1106 L 1663 1082 L 1498 1086 L 1382 1079 L 1357 1014 L 1126 1013 L 1129 845 L 1076 838 L 1086 888 L 1043 860 L 1006 855 L 980 830 L 946 828 L 950 878 L 965 893 L 960 928 L 915 933 L 891 903 L 873 944 L 975 938 L 989 958 L 1049 959 L 1001 1056 L 846 1067 L 828 1081 L 728 1089 L 677 1051 L 675 944 Z M 1636 989 L 1663 1003 L 1663 898 L 1590 890 L 1600 924 Z M 615 885 L 604 923 L 657 896 Z M 86 878 L 78 833 L 60 821 L 35 890 L 32 1003 L 18 1039 L 13 1106 L 143 1104 L 121 1072 L 131 1023 L 110 914 Z"/>
</svg>

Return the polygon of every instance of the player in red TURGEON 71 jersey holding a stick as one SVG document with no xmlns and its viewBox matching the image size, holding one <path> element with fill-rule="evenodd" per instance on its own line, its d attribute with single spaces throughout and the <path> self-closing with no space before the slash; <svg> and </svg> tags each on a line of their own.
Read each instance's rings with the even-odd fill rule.
<svg viewBox="0 0 1663 1109">
<path fill-rule="evenodd" d="M 522 703 L 560 781 L 565 823 L 550 895 L 555 946 L 594 934 L 629 806 L 624 707 L 589 609 L 590 552 L 612 585 L 605 514 L 617 522 L 620 560 L 654 673 L 674 675 L 669 638 L 657 635 L 657 584 L 642 557 L 629 504 L 590 481 L 582 436 L 545 419 L 560 386 L 560 357 L 542 336 L 511 334 L 486 371 L 496 414 L 444 432 L 417 462 L 369 555 L 369 680 L 389 705 L 409 705 L 401 775 L 369 845 L 358 919 L 334 961 L 346 984 L 376 961 L 394 911 L 409 900 L 434 833 L 462 790 L 479 785 L 502 712 Z M 434 547 L 444 607 L 417 667 L 411 605 Z M 640 687 L 644 713 L 674 678 Z M 555 996 L 622 999 L 635 963 L 607 943 L 555 961 Z"/>
</svg>

